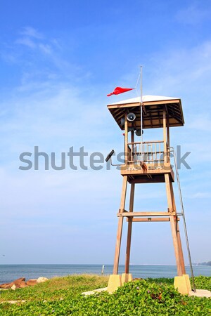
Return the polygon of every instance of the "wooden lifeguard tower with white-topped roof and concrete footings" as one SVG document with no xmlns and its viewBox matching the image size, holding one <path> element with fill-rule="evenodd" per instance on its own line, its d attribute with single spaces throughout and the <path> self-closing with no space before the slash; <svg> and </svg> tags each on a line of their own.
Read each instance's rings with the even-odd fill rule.
<svg viewBox="0 0 211 316">
<path fill-rule="evenodd" d="M 174 171 L 170 162 L 170 156 L 172 156 L 170 127 L 184 125 L 181 100 L 164 96 L 143 96 L 143 98 L 137 97 L 109 104 L 108 110 L 120 129 L 124 131 L 124 164 L 120 167 L 123 185 L 120 209 L 117 213 L 117 240 L 113 275 L 110 276 L 110 283 L 115 282 L 117 286 L 121 285 L 121 279 L 117 275 L 124 218 L 128 222 L 124 280 L 131 278 L 129 275 L 129 258 L 133 222 L 170 222 L 177 263 L 177 276 L 183 277 L 186 275 L 186 269 L 179 232 L 179 216 L 183 214 L 177 213 L 172 186 Z M 163 129 L 162 140 L 143 141 L 142 135 L 145 129 L 157 128 Z M 138 138 L 138 141 L 135 138 Z M 108 155 L 107 161 L 112 154 L 113 152 Z M 134 211 L 135 185 L 143 185 L 144 183 L 165 183 L 166 210 Z M 128 184 L 130 184 L 130 197 L 129 209 L 126 210 L 125 200 Z M 189 279 L 186 279 L 185 282 L 190 283 Z"/>
</svg>

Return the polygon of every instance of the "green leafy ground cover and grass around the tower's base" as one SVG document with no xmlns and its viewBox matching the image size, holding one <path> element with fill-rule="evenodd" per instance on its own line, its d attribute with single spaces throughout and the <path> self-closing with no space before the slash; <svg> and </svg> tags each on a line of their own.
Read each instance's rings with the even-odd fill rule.
<svg viewBox="0 0 211 316">
<path fill-rule="evenodd" d="M 196 277 L 195 282 L 198 289 L 211 290 L 211 277 Z M 107 284 L 106 276 L 71 275 L 55 277 L 34 287 L 1 291 L 0 315 L 211 315 L 210 298 L 181 296 L 173 287 L 173 279 L 136 280 L 124 284 L 114 294 L 81 295 Z"/>
</svg>

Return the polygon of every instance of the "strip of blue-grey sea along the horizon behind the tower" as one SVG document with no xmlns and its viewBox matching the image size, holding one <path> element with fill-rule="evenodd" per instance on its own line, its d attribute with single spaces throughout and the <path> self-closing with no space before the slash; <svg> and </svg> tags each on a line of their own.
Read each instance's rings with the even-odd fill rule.
<svg viewBox="0 0 211 316">
<path fill-rule="evenodd" d="M 110 275 L 113 265 L 0 265 L 0 284 L 9 283 L 25 277 L 26 279 L 37 279 L 38 277 L 61 277 L 66 275 L 96 274 Z M 119 273 L 124 272 L 124 265 L 119 265 Z M 176 265 L 130 265 L 129 272 L 133 277 L 175 277 L 177 275 Z M 186 266 L 186 273 L 191 276 L 190 267 Z M 211 266 L 194 265 L 194 276 L 211 276 Z"/>
</svg>

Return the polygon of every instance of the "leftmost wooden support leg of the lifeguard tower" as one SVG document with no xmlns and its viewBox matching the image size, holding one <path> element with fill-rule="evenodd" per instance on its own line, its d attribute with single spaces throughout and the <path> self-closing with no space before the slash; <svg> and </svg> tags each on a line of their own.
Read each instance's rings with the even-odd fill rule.
<svg viewBox="0 0 211 316">
<path fill-rule="evenodd" d="M 122 184 L 120 213 L 124 212 L 126 192 L 127 192 L 127 176 L 124 176 L 123 184 Z M 116 247 L 115 247 L 115 261 L 113 265 L 113 275 L 118 274 L 119 260 L 120 260 L 120 246 L 121 246 L 121 239 L 122 239 L 122 226 L 123 226 L 123 217 L 120 216 L 119 221 L 118 221 L 118 228 L 117 228 L 117 241 L 116 241 Z"/>
</svg>

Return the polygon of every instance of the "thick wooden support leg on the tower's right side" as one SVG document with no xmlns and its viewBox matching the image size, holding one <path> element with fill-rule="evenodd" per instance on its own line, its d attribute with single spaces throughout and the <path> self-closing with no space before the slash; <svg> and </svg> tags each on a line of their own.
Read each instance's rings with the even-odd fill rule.
<svg viewBox="0 0 211 316">
<path fill-rule="evenodd" d="M 172 193 L 171 193 L 171 187 L 170 187 L 170 176 L 166 173 L 165 174 L 165 185 L 166 185 L 166 192 L 167 192 L 167 203 L 168 203 L 168 209 L 171 213 L 172 211 L 176 211 L 173 208 L 173 201 L 172 201 Z M 171 229 L 172 229 L 172 238 L 173 238 L 173 244 L 174 244 L 174 253 L 176 257 L 176 263 L 177 263 L 177 275 L 181 276 L 181 260 L 180 260 L 180 254 L 179 254 L 179 245 L 177 240 L 177 231 L 176 231 L 176 222 L 174 220 L 174 213 L 170 215 L 170 223 L 171 223 Z"/>
</svg>

